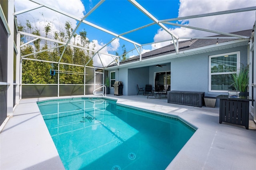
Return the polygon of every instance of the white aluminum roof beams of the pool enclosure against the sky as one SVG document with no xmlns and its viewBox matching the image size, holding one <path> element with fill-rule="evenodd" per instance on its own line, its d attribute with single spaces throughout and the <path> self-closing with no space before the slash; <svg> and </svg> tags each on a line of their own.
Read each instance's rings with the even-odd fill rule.
<svg viewBox="0 0 256 170">
<path fill-rule="evenodd" d="M 135 28 L 133 30 L 130 30 L 128 32 L 124 32 L 122 34 L 116 34 L 114 32 L 111 32 L 105 28 L 102 28 L 96 24 L 92 24 L 91 22 L 88 22 L 86 21 L 86 18 L 88 16 L 90 16 L 90 14 L 92 14 L 92 12 L 94 10 L 96 10 L 99 6 L 101 6 L 105 0 L 100 0 L 100 2 L 98 2 L 98 4 L 96 4 L 96 6 L 94 6 L 84 17 L 82 18 L 79 18 L 79 17 L 76 17 L 72 14 L 69 14 L 67 12 L 64 12 L 62 10 L 59 10 L 57 8 L 55 8 L 54 6 L 50 6 L 48 4 L 41 4 L 39 2 L 37 2 L 36 0 L 30 0 L 31 2 L 34 2 L 37 6 L 33 7 L 33 8 L 29 8 L 29 9 L 25 9 L 25 10 L 21 10 L 21 11 L 18 11 L 18 12 L 14 12 L 14 16 L 17 16 L 19 14 L 23 14 L 25 12 L 29 12 L 29 11 L 32 11 L 32 10 L 35 10 L 35 9 L 38 9 L 38 8 L 48 8 L 52 11 L 55 11 L 55 12 L 58 12 L 59 14 L 62 14 L 62 15 L 65 15 L 65 16 L 68 16 L 74 20 L 77 20 L 79 23 L 78 25 L 76 26 L 76 28 L 74 29 L 74 31 L 72 32 L 72 35 L 70 36 L 70 38 L 68 39 L 67 42 L 59 42 L 58 43 L 61 43 L 61 44 L 64 44 L 65 45 L 65 49 L 66 47 L 69 45 L 69 46 L 73 46 L 73 47 L 78 47 L 78 48 L 81 48 L 81 49 L 86 49 L 86 50 L 89 50 L 89 51 L 93 51 L 95 54 L 92 56 L 92 58 L 96 55 L 99 55 L 99 53 L 101 54 L 104 54 L 104 55 L 109 55 L 113 58 L 113 61 L 111 63 L 109 63 L 108 65 L 103 65 L 102 64 L 102 68 L 106 68 L 108 66 L 110 66 L 112 63 L 116 63 L 116 65 L 119 66 L 119 57 L 120 56 L 116 56 L 116 55 L 110 55 L 110 54 L 106 54 L 106 53 L 102 53 L 100 52 L 104 47 L 106 47 L 109 43 L 111 43 L 113 40 L 115 40 L 116 38 L 121 38 L 129 43 L 133 43 L 136 51 L 138 52 L 138 54 L 140 55 L 140 61 L 142 61 L 142 46 L 143 45 L 148 45 L 148 44 L 152 44 L 152 43 L 158 43 L 158 42 L 152 42 L 152 43 L 146 43 L 146 44 L 140 44 L 138 42 L 134 42 L 133 40 L 130 40 L 128 38 L 124 38 L 123 36 L 125 34 L 128 34 L 128 33 L 131 33 L 131 32 L 135 32 L 137 30 L 141 30 L 143 28 L 146 28 L 146 27 L 149 27 L 149 26 L 152 26 L 154 24 L 157 24 L 158 26 L 160 26 L 160 28 L 162 28 L 164 31 L 166 31 L 168 34 L 170 34 L 170 36 L 172 37 L 169 41 L 173 41 L 174 43 L 174 47 L 175 47 L 175 50 L 176 50 L 176 54 L 179 54 L 179 51 L 178 51 L 178 40 L 180 39 L 195 39 L 195 37 L 178 37 L 176 35 L 174 35 L 166 26 L 164 26 L 164 24 L 169 24 L 169 25 L 174 25 L 174 26 L 180 26 L 180 27 L 185 27 L 185 28 L 190 28 L 190 29 L 195 29 L 195 30 L 200 30 L 200 31 L 205 31 L 205 32 L 212 32 L 212 33 L 216 33 L 216 34 L 222 34 L 222 35 L 225 35 L 225 36 L 231 36 L 231 37 L 228 37 L 230 39 L 233 39 L 233 38 L 245 38 L 245 39 L 249 39 L 249 37 L 246 37 L 246 36 L 239 36 L 239 35 L 235 35 L 235 34 L 229 34 L 229 33 L 225 33 L 225 32 L 220 32 L 220 31 L 214 31 L 214 30 L 208 30 L 208 29 L 203 29 L 203 28 L 197 28 L 197 27 L 192 27 L 192 26 L 186 26 L 186 25 L 182 25 L 182 24 L 174 24 L 174 23 L 171 23 L 170 21 L 176 21 L 176 20 L 186 20 L 186 19 L 191 19 L 191 18 L 200 18 L 200 17 L 207 17 L 207 16 L 216 16 L 216 15 L 224 15 L 224 14 L 232 14 L 232 13 L 238 13 L 238 12 L 247 12 L 247 11 L 253 11 L 253 10 L 256 10 L 256 6 L 252 6 L 252 7 L 248 7 L 248 8 L 240 8 L 240 9 L 235 9 L 235 10 L 226 10 L 226 11 L 220 11 L 220 12 L 212 12 L 212 13 L 207 13 L 207 14 L 199 14 L 199 15 L 193 15 L 193 16 L 185 16 L 185 17 L 179 17 L 179 18 L 170 18 L 170 19 L 166 19 L 166 20 L 157 20 L 155 16 L 153 16 L 150 12 L 148 12 L 143 6 L 141 6 L 138 2 L 136 2 L 136 0 L 128 0 L 135 8 L 137 8 L 138 10 L 140 10 L 142 12 L 142 14 L 144 14 L 145 16 L 147 16 L 148 18 L 150 18 L 153 22 L 150 23 L 150 24 L 147 24 L 145 26 L 141 26 L 141 27 L 138 27 L 138 28 Z M 72 38 L 72 36 L 75 34 L 76 30 L 78 29 L 78 27 L 80 26 L 80 24 L 87 24 L 89 26 L 92 26 L 98 30 L 101 30 L 103 32 L 106 32 L 112 36 L 114 36 L 115 38 L 113 38 L 112 40 L 110 40 L 109 42 L 106 43 L 106 45 L 104 45 L 104 47 L 102 47 L 101 49 L 99 49 L 98 51 L 96 50 L 92 50 L 92 49 L 87 49 L 87 48 L 84 48 L 84 47 L 79 47 L 77 45 L 72 45 L 70 44 L 70 40 Z M 24 35 L 28 35 L 28 33 L 21 33 L 21 34 L 24 34 Z M 30 36 L 32 36 L 32 34 L 30 34 Z M 40 36 L 34 36 L 35 38 L 41 38 L 43 40 L 49 40 L 49 41 L 53 41 L 53 42 L 56 42 L 54 40 L 50 40 L 48 38 L 43 38 L 43 37 L 40 37 Z M 227 37 L 224 37 L 224 38 L 227 38 Z M 198 38 L 197 38 L 198 39 Z M 36 39 L 34 39 L 36 40 Z M 32 40 L 32 41 L 34 41 Z M 31 42 L 30 42 L 31 43 Z M 140 47 L 140 50 L 138 50 L 138 47 Z M 64 49 L 64 50 L 65 50 Z M 132 50 L 134 50 L 132 49 Z M 50 49 L 49 49 L 50 50 Z M 132 50 L 128 50 L 128 51 L 132 51 Z M 38 51 L 37 53 L 39 52 L 43 52 L 43 51 Z M 64 53 L 64 51 L 63 51 Z M 58 63 L 60 63 L 61 59 L 62 59 L 62 56 L 63 56 L 63 53 L 58 61 Z M 32 53 L 34 54 L 34 53 Z M 31 54 L 31 55 L 32 55 Z M 26 55 L 28 56 L 28 55 Z M 26 56 L 22 56 L 22 57 L 26 57 Z M 91 58 L 91 59 L 92 59 Z M 118 59 L 118 62 L 116 62 L 116 59 Z M 100 59 L 101 60 L 101 59 Z M 89 63 L 90 61 L 88 61 Z M 86 65 L 88 64 L 86 63 Z"/>
</svg>

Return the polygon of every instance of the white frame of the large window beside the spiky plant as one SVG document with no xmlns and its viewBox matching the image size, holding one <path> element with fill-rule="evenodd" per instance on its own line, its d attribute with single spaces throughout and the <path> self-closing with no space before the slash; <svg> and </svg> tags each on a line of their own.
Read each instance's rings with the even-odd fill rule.
<svg viewBox="0 0 256 170">
<path fill-rule="evenodd" d="M 234 55 L 236 54 L 236 71 L 234 72 L 224 72 L 224 73 L 211 73 L 211 59 L 214 57 L 221 57 L 225 55 Z M 212 75 L 223 75 L 223 74 L 233 74 L 237 73 L 237 71 L 240 69 L 240 51 L 231 52 L 231 53 L 222 53 L 217 55 L 209 55 L 209 61 L 208 61 L 208 91 L 209 92 L 228 92 L 229 90 L 212 90 Z"/>
</svg>

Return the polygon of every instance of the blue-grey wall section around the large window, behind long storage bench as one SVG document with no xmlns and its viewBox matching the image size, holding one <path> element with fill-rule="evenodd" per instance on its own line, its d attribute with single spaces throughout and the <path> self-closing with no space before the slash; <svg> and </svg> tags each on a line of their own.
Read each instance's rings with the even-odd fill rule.
<svg viewBox="0 0 256 170">
<path fill-rule="evenodd" d="M 227 95 L 227 93 L 221 92 L 208 92 L 209 56 L 235 51 L 240 51 L 240 63 L 247 64 L 247 45 L 171 59 L 171 90 L 202 91 L 205 93 L 205 96 L 210 97 L 216 97 L 217 95 Z M 218 102 L 216 105 L 218 106 Z"/>
</svg>

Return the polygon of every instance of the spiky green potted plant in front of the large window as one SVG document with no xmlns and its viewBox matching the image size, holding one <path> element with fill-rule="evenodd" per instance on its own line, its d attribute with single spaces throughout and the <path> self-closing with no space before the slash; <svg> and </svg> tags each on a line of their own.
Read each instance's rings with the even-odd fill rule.
<svg viewBox="0 0 256 170">
<path fill-rule="evenodd" d="M 247 87 L 249 84 L 249 65 L 242 67 L 238 70 L 238 73 L 232 74 L 232 86 L 236 91 L 240 91 L 241 96 L 248 96 Z"/>
</svg>

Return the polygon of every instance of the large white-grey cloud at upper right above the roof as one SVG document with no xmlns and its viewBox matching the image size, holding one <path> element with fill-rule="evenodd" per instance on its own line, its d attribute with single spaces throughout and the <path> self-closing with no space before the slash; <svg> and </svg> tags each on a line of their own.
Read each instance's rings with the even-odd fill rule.
<svg viewBox="0 0 256 170">
<path fill-rule="evenodd" d="M 180 0 L 178 17 L 246 8 L 253 6 L 252 4 L 255 4 L 254 0 Z M 254 21 L 255 11 L 249 11 L 234 14 L 193 18 L 182 20 L 180 22 L 182 24 L 188 24 L 189 26 L 193 27 L 229 33 L 252 29 Z M 204 37 L 213 35 L 213 33 L 192 30 L 184 27 L 170 29 L 170 31 L 180 38 Z M 162 29 L 159 29 L 157 34 L 154 36 L 154 42 L 159 42 L 167 39 L 170 39 L 170 35 Z M 170 42 L 156 43 L 156 47 L 155 44 L 152 44 L 152 49 L 156 49 L 168 44 L 170 44 Z"/>
</svg>

